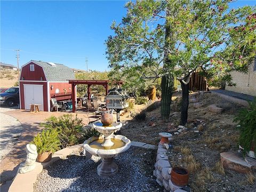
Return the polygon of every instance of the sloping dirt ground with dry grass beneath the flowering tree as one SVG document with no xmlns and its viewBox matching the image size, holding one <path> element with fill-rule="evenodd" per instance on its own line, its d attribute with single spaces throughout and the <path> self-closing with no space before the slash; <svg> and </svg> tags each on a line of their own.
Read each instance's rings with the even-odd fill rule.
<svg viewBox="0 0 256 192">
<path fill-rule="evenodd" d="M 160 108 L 157 108 L 147 113 L 145 121 L 128 121 L 121 134 L 132 141 L 157 145 L 159 132 L 173 134 L 178 131 L 180 97 L 179 93 L 174 94 L 169 121 L 162 121 Z M 182 166 L 189 170 L 188 186 L 193 191 L 255 191 L 255 180 L 250 183 L 253 175 L 224 171 L 219 163 L 221 152 L 238 150 L 239 133 L 233 119 L 242 107 L 211 93 L 199 97 L 191 94 L 190 98 L 193 97 L 199 99 L 203 106 L 194 108 L 194 103 L 190 102 L 186 125 L 188 129 L 173 135 L 170 142 L 172 147 L 167 155 L 172 166 Z M 208 111 L 208 106 L 212 104 L 222 107 L 224 111 L 221 114 Z"/>
</svg>

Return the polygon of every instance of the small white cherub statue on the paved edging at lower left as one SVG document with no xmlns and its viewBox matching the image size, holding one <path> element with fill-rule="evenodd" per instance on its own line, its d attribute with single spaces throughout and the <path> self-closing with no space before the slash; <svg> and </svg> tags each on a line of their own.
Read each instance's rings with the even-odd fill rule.
<svg viewBox="0 0 256 192">
<path fill-rule="evenodd" d="M 19 173 L 27 173 L 35 169 L 35 163 L 37 158 L 36 146 L 33 144 L 27 144 L 27 159 L 25 163 L 20 164 Z"/>
</svg>

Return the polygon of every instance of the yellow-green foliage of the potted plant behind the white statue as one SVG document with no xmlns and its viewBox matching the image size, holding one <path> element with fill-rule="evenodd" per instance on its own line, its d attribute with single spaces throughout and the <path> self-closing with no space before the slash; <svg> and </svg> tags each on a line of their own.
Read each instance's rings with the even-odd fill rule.
<svg viewBox="0 0 256 192">
<path fill-rule="evenodd" d="M 54 153 L 60 146 L 58 131 L 55 129 L 43 130 L 42 133 L 38 133 L 34 137 L 31 143 L 36 145 L 38 154 L 50 151 Z"/>
</svg>

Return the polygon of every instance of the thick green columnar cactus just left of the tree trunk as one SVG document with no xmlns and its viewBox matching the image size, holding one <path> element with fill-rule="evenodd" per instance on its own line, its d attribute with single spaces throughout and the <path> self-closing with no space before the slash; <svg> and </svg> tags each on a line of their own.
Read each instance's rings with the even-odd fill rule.
<svg viewBox="0 0 256 192">
<path fill-rule="evenodd" d="M 164 75 L 161 81 L 162 98 L 161 98 L 161 117 L 168 119 L 171 110 L 172 102 L 172 89 L 173 89 L 173 76 Z"/>
</svg>

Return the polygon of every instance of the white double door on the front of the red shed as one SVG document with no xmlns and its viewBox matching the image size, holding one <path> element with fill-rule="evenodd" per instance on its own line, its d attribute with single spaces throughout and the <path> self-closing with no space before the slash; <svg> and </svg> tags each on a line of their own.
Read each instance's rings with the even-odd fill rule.
<svg viewBox="0 0 256 192">
<path fill-rule="evenodd" d="M 44 109 L 43 85 L 24 85 L 25 109 L 30 109 L 30 104 L 39 104 L 39 110 Z"/>
</svg>

